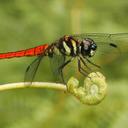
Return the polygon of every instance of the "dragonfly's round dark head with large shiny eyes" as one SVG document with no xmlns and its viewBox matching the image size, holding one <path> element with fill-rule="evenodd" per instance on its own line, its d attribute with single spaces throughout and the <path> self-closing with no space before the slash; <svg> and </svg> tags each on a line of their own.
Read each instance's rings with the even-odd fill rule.
<svg viewBox="0 0 128 128">
<path fill-rule="evenodd" d="M 92 39 L 86 38 L 81 41 L 80 49 L 83 57 L 92 57 L 95 55 L 97 45 Z"/>
</svg>

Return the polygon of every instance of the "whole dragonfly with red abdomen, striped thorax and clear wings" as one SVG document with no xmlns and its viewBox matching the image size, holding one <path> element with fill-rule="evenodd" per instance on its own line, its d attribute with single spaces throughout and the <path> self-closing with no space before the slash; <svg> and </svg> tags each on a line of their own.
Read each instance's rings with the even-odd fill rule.
<svg viewBox="0 0 128 128">
<path fill-rule="evenodd" d="M 90 72 L 93 72 L 91 67 L 101 68 L 100 65 L 93 61 L 95 56 L 103 54 L 111 57 L 112 53 L 125 52 L 128 50 L 127 48 L 128 33 L 87 33 L 64 35 L 51 44 L 42 44 L 15 52 L 0 53 L 0 59 L 36 56 L 36 59 L 27 67 L 25 72 L 25 81 L 32 82 L 44 57 L 47 56 L 54 62 L 59 58 L 58 64 L 53 64 L 53 66 L 61 81 L 65 83 L 63 70 L 74 59 L 77 60 L 80 74 L 87 76 Z"/>
</svg>

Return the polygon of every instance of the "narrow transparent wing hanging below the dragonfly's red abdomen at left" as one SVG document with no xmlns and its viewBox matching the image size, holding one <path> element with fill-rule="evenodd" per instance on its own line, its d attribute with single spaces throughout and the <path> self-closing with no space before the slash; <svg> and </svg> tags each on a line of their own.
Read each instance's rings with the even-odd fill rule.
<svg viewBox="0 0 128 128">
<path fill-rule="evenodd" d="M 30 82 L 30 84 L 32 83 L 33 79 L 35 78 L 36 72 L 38 70 L 38 67 L 41 63 L 43 56 L 39 56 L 37 57 L 26 69 L 25 72 L 25 82 Z"/>
</svg>

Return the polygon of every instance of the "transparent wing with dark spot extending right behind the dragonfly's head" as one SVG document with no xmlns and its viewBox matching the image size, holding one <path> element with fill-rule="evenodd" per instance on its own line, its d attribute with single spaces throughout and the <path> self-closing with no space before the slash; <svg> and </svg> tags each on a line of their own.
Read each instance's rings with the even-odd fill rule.
<svg viewBox="0 0 128 128">
<path fill-rule="evenodd" d="M 97 58 L 102 63 L 112 62 L 117 57 L 128 53 L 128 33 L 121 34 L 104 34 L 104 33 L 88 33 L 73 35 L 76 40 L 83 38 L 91 38 L 97 44 L 97 51 L 94 57 L 90 58 L 93 61 Z"/>
</svg>

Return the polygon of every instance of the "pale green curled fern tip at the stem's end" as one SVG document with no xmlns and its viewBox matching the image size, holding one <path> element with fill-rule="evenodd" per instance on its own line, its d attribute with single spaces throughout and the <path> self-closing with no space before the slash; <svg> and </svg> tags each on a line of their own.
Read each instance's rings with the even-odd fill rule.
<svg viewBox="0 0 128 128">
<path fill-rule="evenodd" d="M 107 84 L 105 77 L 100 72 L 93 72 L 88 75 L 81 87 L 79 87 L 79 81 L 71 77 L 67 83 L 67 89 L 83 104 L 95 105 L 106 96 Z"/>
</svg>

